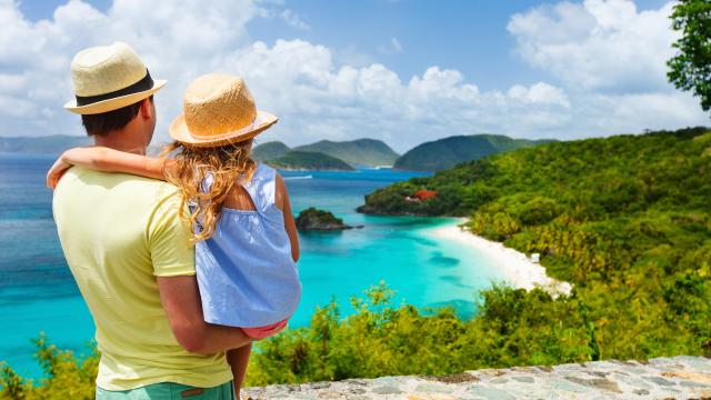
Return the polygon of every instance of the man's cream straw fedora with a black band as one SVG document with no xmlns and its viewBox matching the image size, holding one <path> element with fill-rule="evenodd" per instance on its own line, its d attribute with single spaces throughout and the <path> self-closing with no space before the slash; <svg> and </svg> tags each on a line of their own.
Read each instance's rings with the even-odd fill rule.
<svg viewBox="0 0 711 400">
<path fill-rule="evenodd" d="M 79 114 L 108 112 L 159 91 L 164 80 L 151 78 L 130 46 L 116 42 L 84 49 L 71 61 L 76 99 L 64 108 Z"/>
</svg>

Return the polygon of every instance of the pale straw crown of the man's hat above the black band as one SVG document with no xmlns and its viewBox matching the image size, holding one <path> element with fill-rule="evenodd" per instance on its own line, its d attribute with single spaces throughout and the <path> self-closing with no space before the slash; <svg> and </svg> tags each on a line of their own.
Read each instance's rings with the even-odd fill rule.
<svg viewBox="0 0 711 400">
<path fill-rule="evenodd" d="M 147 69 L 136 51 L 123 42 L 84 49 L 71 62 L 77 96 L 111 93 L 140 81 Z"/>
</svg>

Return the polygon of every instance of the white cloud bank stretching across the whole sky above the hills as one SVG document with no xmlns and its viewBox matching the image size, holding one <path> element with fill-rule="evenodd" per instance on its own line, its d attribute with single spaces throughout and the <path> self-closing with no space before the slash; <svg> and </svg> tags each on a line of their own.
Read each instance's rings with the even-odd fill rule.
<svg viewBox="0 0 711 400">
<path fill-rule="evenodd" d="M 154 0 L 152 12 L 146 13 L 141 0 L 116 0 L 101 12 L 71 0 L 51 20 L 31 22 L 16 2 L 0 0 L 0 134 L 81 134 L 79 119 L 61 108 L 72 94 L 69 63 L 80 49 L 114 40 L 131 43 L 151 74 L 169 80 L 157 96 L 159 140 L 167 139 L 166 127 L 180 112 L 184 88 L 210 71 L 242 74 L 258 107 L 280 117 L 261 140 L 290 144 L 370 137 L 403 151 L 451 134 L 574 138 L 707 121 L 694 99 L 659 82 L 663 62 L 649 66 L 661 62 L 657 51 L 635 50 L 638 67 L 598 59 L 587 66 L 589 57 L 581 56 L 623 53 L 634 40 L 654 49 L 668 46 L 668 33 L 645 31 L 660 27 L 659 16 L 668 6 L 638 12 L 620 1 L 588 1 L 514 16 L 509 30 L 521 56 L 560 83 L 489 91 L 454 69 L 430 67 L 400 77 L 354 49 L 332 50 L 304 40 L 254 41 L 246 28 L 250 20 L 288 19 L 281 2 L 268 6 L 188 0 L 177 8 L 173 1 Z M 631 29 L 637 33 L 628 32 L 621 19 L 637 27 Z M 584 51 L 570 50 L 575 43 Z"/>
</svg>

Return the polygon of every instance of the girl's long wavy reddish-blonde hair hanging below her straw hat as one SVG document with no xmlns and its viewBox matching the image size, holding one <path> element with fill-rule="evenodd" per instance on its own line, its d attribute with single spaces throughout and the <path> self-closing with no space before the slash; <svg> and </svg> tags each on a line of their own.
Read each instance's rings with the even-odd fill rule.
<svg viewBox="0 0 711 400">
<path fill-rule="evenodd" d="M 232 188 L 252 179 L 257 164 L 250 158 L 251 148 L 252 139 L 209 148 L 174 141 L 163 149 L 162 157 L 171 156 L 176 160 L 164 174 L 181 191 L 181 218 L 192 227 L 193 243 L 214 234 Z M 209 176 L 212 176 L 212 186 L 203 186 Z M 188 206 L 190 212 L 186 212 Z"/>
</svg>

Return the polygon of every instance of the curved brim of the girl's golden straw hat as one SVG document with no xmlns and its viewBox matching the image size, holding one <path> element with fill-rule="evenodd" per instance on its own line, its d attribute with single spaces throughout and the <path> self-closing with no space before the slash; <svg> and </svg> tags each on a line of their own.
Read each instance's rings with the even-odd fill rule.
<svg viewBox="0 0 711 400">
<path fill-rule="evenodd" d="M 194 136 L 190 133 L 190 129 L 186 123 L 184 114 L 178 116 L 170 124 L 168 132 L 173 140 L 177 140 L 181 143 L 194 146 L 194 147 L 218 147 L 230 143 L 237 143 L 247 139 L 251 139 L 264 130 L 269 129 L 271 126 L 277 123 L 279 118 L 272 116 L 266 111 L 257 111 L 257 117 L 254 117 L 254 121 L 248 124 L 244 128 L 221 133 L 219 136 L 212 136 L 209 138 L 200 138 L 199 136 Z"/>
</svg>

